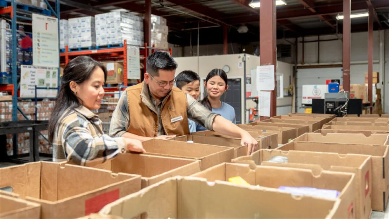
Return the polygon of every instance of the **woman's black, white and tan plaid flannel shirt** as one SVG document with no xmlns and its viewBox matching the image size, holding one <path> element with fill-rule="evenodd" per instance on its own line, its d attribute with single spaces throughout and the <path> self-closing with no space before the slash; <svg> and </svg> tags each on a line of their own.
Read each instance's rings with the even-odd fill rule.
<svg viewBox="0 0 389 219">
<path fill-rule="evenodd" d="M 101 120 L 84 106 L 67 111 L 53 138 L 53 161 L 70 161 L 85 166 L 93 160 L 105 162 L 126 151 L 124 138 L 103 133 Z"/>
</svg>

